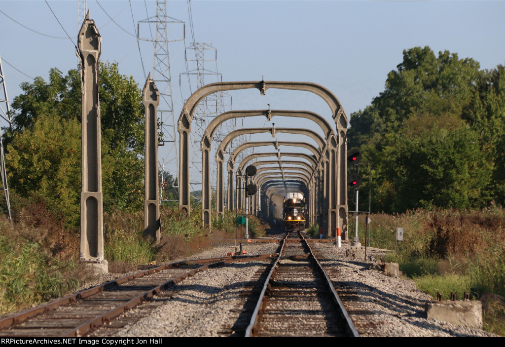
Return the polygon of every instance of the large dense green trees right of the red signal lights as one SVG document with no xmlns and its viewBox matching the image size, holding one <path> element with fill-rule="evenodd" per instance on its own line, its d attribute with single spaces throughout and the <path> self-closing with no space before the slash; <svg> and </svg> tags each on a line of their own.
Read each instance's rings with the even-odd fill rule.
<svg viewBox="0 0 505 347">
<path fill-rule="evenodd" d="M 505 200 L 505 78 L 429 47 L 403 51 L 385 89 L 351 114 L 350 146 L 374 172 L 375 207 L 478 208 Z M 500 192 L 500 193 L 498 193 Z"/>
</svg>

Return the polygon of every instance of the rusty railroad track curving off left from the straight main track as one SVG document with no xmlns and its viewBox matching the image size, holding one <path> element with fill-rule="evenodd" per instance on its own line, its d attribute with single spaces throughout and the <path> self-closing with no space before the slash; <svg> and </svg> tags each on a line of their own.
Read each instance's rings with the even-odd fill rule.
<svg viewBox="0 0 505 347">
<path fill-rule="evenodd" d="M 227 262 L 268 257 L 272 256 L 198 259 L 138 272 L 36 308 L 0 318 L 0 336 L 83 336 L 146 301 L 148 302 L 145 304 L 153 308 L 162 305 L 163 302 L 151 301 L 154 295 L 199 271 Z M 121 321 L 115 323 L 114 325 L 120 326 L 128 324 Z"/>
</svg>

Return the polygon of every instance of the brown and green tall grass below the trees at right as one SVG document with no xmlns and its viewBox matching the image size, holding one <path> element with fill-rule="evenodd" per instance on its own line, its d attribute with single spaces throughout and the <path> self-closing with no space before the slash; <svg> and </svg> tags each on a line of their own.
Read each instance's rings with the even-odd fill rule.
<svg viewBox="0 0 505 347">
<path fill-rule="evenodd" d="M 349 218 L 354 224 L 354 218 Z M 363 219 L 363 218 L 360 218 Z M 505 296 L 505 210 L 417 210 L 401 215 L 371 216 L 371 245 L 394 249 L 396 228 L 403 227 L 398 254 L 387 256 L 414 279 L 421 290 L 436 298 L 457 298 L 463 292 L 487 291 Z M 363 223 L 364 224 L 364 223 Z M 352 229 L 349 227 L 350 230 Z M 352 232 L 354 234 L 354 232 Z M 364 226 L 359 228 L 364 240 Z M 505 309 L 484 313 L 484 328 L 505 334 Z"/>
</svg>

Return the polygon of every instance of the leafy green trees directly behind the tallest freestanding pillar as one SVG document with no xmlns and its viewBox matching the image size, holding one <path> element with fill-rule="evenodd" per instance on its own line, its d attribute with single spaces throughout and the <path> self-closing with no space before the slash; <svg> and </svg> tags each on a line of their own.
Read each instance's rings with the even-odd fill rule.
<svg viewBox="0 0 505 347">
<path fill-rule="evenodd" d="M 42 196 L 69 224 L 79 220 L 81 85 L 78 70 L 58 69 L 21 85 L 13 128 L 6 129 L 6 165 L 13 192 Z M 100 62 L 104 210 L 139 209 L 143 196 L 144 108 L 133 78 Z M 12 182 L 12 183 L 11 183 Z"/>
</svg>

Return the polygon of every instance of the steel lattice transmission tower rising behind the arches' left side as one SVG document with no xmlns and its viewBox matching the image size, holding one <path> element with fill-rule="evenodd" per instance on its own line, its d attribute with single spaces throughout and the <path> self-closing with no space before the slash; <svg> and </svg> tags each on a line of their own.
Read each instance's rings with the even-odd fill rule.
<svg viewBox="0 0 505 347">
<path fill-rule="evenodd" d="M 188 50 L 193 51 L 194 59 L 192 58 L 192 54 L 188 54 Z M 212 53 L 206 54 L 206 52 Z M 211 77 L 212 81 L 208 83 L 222 81 L 222 75 L 217 71 L 217 49 L 212 45 L 208 43 L 193 42 L 186 49 L 184 56 L 186 65 L 189 65 L 188 63 L 191 63 L 195 64 L 196 67 L 193 70 L 189 70 L 179 75 L 179 85 L 181 81 L 181 75 L 195 75 L 197 88 L 203 87 L 206 84 L 206 76 L 213 76 Z M 227 103 L 227 100 L 229 100 L 229 105 Z M 231 108 L 231 96 L 224 92 L 210 94 L 209 96 L 205 97 L 204 100 L 201 101 L 196 107 L 193 115 L 193 123 L 191 124 L 194 126 L 191 131 L 191 143 L 193 144 L 193 156 L 191 160 L 192 165 L 190 168 L 192 190 L 201 189 L 201 138 L 203 137 L 205 129 L 212 121 L 212 119 L 221 113 L 224 113 L 227 107 Z M 227 121 L 218 128 L 216 134 L 214 135 L 214 150 L 219 146 L 224 136 L 235 129 L 234 124 L 234 120 L 232 120 L 232 122 Z M 228 150 L 230 149 L 231 148 L 228 148 Z M 217 167 L 215 170 L 211 170 L 211 182 L 213 187 L 216 186 L 216 173 Z"/>
</svg>

